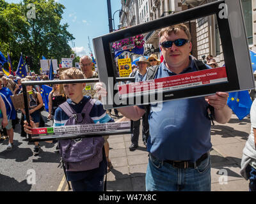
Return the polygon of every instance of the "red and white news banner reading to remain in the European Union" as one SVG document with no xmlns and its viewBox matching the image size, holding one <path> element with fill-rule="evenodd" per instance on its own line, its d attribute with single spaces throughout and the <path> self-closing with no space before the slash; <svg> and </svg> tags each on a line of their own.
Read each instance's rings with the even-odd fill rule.
<svg viewBox="0 0 256 204">
<path fill-rule="evenodd" d="M 156 92 L 175 91 L 202 85 L 227 82 L 225 67 L 194 71 L 171 77 L 156 78 L 146 82 L 134 82 L 118 86 L 122 98 L 140 96 Z"/>
</svg>

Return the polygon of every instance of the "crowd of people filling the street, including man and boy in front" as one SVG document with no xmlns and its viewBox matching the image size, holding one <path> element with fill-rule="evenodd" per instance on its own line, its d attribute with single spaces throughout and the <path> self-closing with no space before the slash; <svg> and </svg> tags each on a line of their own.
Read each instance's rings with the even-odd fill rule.
<svg viewBox="0 0 256 204">
<path fill-rule="evenodd" d="M 195 57 L 190 55 L 191 35 L 186 25 L 172 25 L 161 29 L 159 45 L 163 62 L 154 54 L 150 55 L 148 59 L 140 57 L 136 66 L 132 67 L 130 75 L 135 78 L 135 82 L 197 71 Z M 204 66 L 205 69 L 211 69 L 217 68 L 218 64 L 209 55 L 207 64 Z M 92 71 L 90 57 L 81 57 L 80 67 L 81 71 L 76 68 L 63 71 L 60 74 L 60 79 L 98 78 L 97 73 Z M 154 73 L 154 75 L 150 73 Z M 21 80 L 36 80 L 38 77 L 47 80 L 47 76 L 36 75 Z M 6 128 L 9 137 L 7 148 L 12 149 L 12 120 L 15 120 L 17 114 L 12 103 L 9 104 L 9 98 L 13 92 L 22 91 L 22 87 L 20 87 L 20 78 L 1 78 L 0 116 L 3 119 L 1 124 L 3 128 Z M 86 87 L 85 90 L 84 87 Z M 95 88 L 93 89 L 93 87 Z M 36 87 L 28 87 L 29 90 L 33 88 L 36 89 Z M 108 115 L 103 109 L 100 101 L 102 97 L 108 95 L 101 82 L 97 84 L 65 84 L 63 89 L 64 93 L 61 93 L 60 87 L 54 85 L 49 94 L 48 118 L 54 118 L 53 126 L 77 124 L 77 119 L 75 120 L 71 115 L 76 114 L 78 118 L 82 113 L 84 113 L 83 122 L 86 123 L 114 122 L 111 115 Z M 36 94 L 36 99 L 31 100 L 34 103 L 29 110 L 32 119 L 30 126 L 24 117 L 24 131 L 29 134 L 31 134 L 31 128 L 40 126 L 38 112 L 42 108 L 42 98 L 39 95 Z M 134 105 L 116 108 L 121 115 L 134 123 L 131 146 L 129 147 L 131 151 L 138 148 L 140 119 L 142 118 L 143 143 L 149 152 L 145 182 L 147 191 L 211 191 L 209 153 L 212 147 L 211 120 L 213 118 L 220 124 L 225 124 L 230 120 L 232 110 L 227 105 L 227 98 L 228 93 L 216 92 L 212 96 L 164 101 L 147 105 L 147 107 Z M 252 131 L 244 148 L 241 171 L 244 178 L 250 180 L 250 191 L 255 191 L 256 186 L 255 104 L 256 102 L 253 102 Z M 65 173 L 72 184 L 72 189 L 74 191 L 102 191 L 104 174 L 107 173 L 107 168 L 108 171 L 113 168 L 109 159 L 108 137 L 60 140 L 59 146 Z M 86 152 L 87 149 L 90 149 L 90 153 Z M 38 153 L 39 150 L 39 143 L 35 143 L 34 152 Z M 83 159 L 77 152 L 83 156 Z"/>
</svg>

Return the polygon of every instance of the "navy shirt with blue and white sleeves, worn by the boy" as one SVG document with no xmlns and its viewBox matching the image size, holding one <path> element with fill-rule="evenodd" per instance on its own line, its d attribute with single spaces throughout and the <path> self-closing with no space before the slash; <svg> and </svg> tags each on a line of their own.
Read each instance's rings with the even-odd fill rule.
<svg viewBox="0 0 256 204">
<path fill-rule="evenodd" d="M 89 99 L 90 96 L 84 96 L 79 103 L 74 103 L 71 99 L 67 99 L 67 102 L 74 109 L 74 111 L 76 111 L 77 113 L 81 113 L 84 105 L 86 105 Z M 115 120 L 109 117 L 109 115 L 106 113 L 106 110 L 103 109 L 102 103 L 100 101 L 95 102 L 89 115 L 94 123 L 115 122 Z M 68 115 L 63 112 L 63 110 L 59 107 L 55 111 L 53 126 L 64 126 L 68 119 Z M 101 175 L 104 170 L 106 170 L 106 161 L 105 159 L 102 159 L 99 168 L 96 168 L 94 170 L 67 171 L 67 179 L 73 181 L 81 180 L 91 176 L 95 177 L 95 175 Z"/>
</svg>

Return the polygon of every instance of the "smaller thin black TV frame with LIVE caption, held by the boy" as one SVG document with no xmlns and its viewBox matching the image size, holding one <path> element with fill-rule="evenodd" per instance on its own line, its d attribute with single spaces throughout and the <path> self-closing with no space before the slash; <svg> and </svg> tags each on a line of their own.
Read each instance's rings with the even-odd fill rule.
<svg viewBox="0 0 256 204">
<path fill-rule="evenodd" d="M 40 81 L 40 82 L 22 82 L 22 95 L 13 95 L 15 109 L 23 108 L 26 112 L 26 118 L 29 118 L 29 107 L 31 103 L 35 101 L 35 92 L 27 91 L 28 85 L 52 85 L 52 84 L 78 84 L 78 83 L 90 83 L 98 82 L 97 78 L 93 79 L 77 79 L 77 80 L 54 80 L 54 81 Z M 21 97 L 21 99 L 20 99 Z M 22 103 L 19 103 L 19 102 Z M 72 115 L 76 117 L 76 114 Z M 84 116 L 83 116 L 84 117 Z M 122 121 L 122 122 L 121 122 Z M 132 133 L 132 122 L 127 121 L 106 122 L 97 124 L 76 124 L 72 126 L 49 126 L 44 128 L 31 129 L 32 134 L 28 134 L 29 142 L 40 141 L 55 141 L 55 140 L 67 140 L 84 137 L 97 137 L 105 135 L 124 135 Z M 30 121 L 28 121 L 30 123 Z"/>
</svg>

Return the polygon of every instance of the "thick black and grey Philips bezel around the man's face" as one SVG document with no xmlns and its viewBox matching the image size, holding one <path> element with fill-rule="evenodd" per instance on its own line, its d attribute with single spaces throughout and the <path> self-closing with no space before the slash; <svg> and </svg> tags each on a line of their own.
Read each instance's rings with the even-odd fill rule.
<svg viewBox="0 0 256 204">
<path fill-rule="evenodd" d="M 227 11 L 227 17 L 223 14 Z M 158 18 L 150 22 L 134 25 L 120 31 L 106 34 L 93 39 L 93 46 L 97 59 L 100 82 L 104 82 L 107 87 L 108 97 L 103 99 L 105 109 L 118 108 L 131 105 L 129 98 L 115 101 L 115 96 L 118 96 L 118 90 L 115 89 L 117 82 L 115 75 L 115 61 L 111 43 L 114 41 L 136 36 L 150 31 L 156 31 L 168 25 L 175 25 L 182 22 L 189 22 L 209 15 L 216 15 L 218 27 L 221 36 L 221 45 L 225 59 L 227 71 L 227 82 L 219 84 L 210 84 L 200 87 L 191 87 L 177 91 L 164 92 L 162 99 L 157 99 L 157 93 L 148 95 L 149 103 L 168 101 L 172 99 L 194 98 L 198 96 L 207 96 L 215 94 L 218 91 L 234 92 L 254 89 L 254 79 L 252 73 L 252 64 L 250 62 L 250 54 L 248 43 L 246 40 L 246 31 L 244 29 L 243 10 L 240 0 L 223 0 L 213 3 L 204 4 L 196 8 L 180 11 L 167 17 Z M 220 15 L 220 16 L 219 16 Z M 112 85 L 113 84 L 113 85 Z M 151 97 L 150 97 L 151 96 Z M 145 94 L 134 96 L 132 105 L 148 103 L 148 99 L 143 101 Z"/>
</svg>

